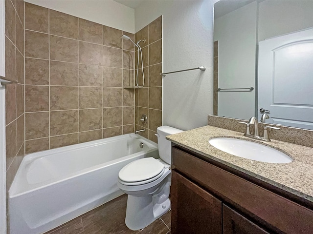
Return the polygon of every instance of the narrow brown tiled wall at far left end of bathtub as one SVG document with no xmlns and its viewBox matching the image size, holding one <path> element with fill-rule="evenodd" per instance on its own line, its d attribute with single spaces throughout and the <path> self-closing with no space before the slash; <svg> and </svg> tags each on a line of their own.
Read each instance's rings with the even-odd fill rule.
<svg viewBox="0 0 313 234">
<path fill-rule="evenodd" d="M 6 190 L 24 156 L 24 2 L 5 0 Z M 8 209 L 7 209 L 8 214 Z"/>
</svg>

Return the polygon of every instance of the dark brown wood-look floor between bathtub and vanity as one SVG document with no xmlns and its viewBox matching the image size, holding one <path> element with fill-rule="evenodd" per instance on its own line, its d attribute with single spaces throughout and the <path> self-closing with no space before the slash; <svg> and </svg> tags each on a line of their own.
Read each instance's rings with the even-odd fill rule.
<svg viewBox="0 0 313 234">
<path fill-rule="evenodd" d="M 132 231 L 125 225 L 127 195 L 99 206 L 45 234 L 170 234 L 171 212 L 148 227 Z"/>
</svg>

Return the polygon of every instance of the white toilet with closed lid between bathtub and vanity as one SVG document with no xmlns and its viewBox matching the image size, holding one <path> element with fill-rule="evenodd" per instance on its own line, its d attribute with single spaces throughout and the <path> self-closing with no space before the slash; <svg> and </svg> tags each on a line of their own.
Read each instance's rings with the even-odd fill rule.
<svg viewBox="0 0 313 234">
<path fill-rule="evenodd" d="M 160 126 L 156 132 L 160 158 L 135 160 L 118 174 L 117 185 L 128 195 L 125 224 L 131 230 L 147 227 L 171 208 L 171 142 L 165 137 L 183 131 Z"/>
</svg>

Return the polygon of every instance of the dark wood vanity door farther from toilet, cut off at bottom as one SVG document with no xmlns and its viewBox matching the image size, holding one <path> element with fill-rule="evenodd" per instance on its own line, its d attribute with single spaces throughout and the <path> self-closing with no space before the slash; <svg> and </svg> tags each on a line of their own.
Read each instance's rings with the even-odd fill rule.
<svg viewBox="0 0 313 234">
<path fill-rule="evenodd" d="M 223 234 L 268 234 L 268 232 L 223 204 Z"/>
</svg>

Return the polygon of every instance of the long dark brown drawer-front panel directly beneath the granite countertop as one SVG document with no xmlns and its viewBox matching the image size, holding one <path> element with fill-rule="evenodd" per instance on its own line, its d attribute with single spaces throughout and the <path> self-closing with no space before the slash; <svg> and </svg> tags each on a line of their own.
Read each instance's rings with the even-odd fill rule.
<svg viewBox="0 0 313 234">
<path fill-rule="evenodd" d="M 174 147 L 172 157 L 175 170 L 270 230 L 313 233 L 312 210 Z"/>
</svg>

